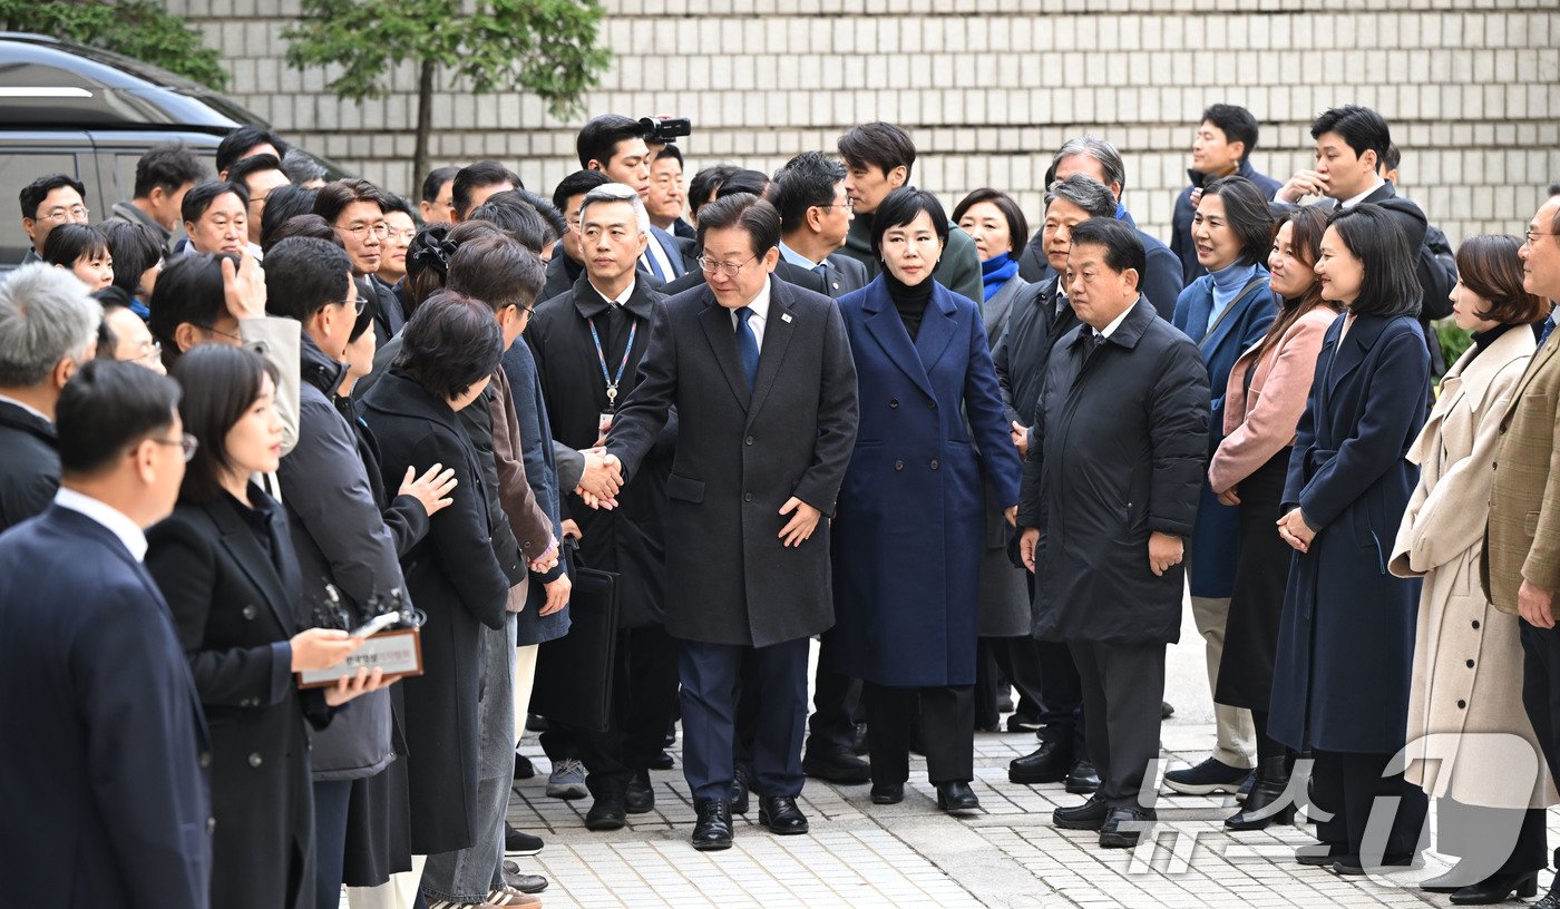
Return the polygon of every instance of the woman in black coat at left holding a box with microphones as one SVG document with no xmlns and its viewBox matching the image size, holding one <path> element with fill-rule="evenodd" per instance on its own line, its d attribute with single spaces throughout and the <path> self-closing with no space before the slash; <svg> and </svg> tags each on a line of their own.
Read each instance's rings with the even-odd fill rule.
<svg viewBox="0 0 1560 909">
<path fill-rule="evenodd" d="M 173 515 L 147 535 L 147 571 L 162 591 L 211 730 L 212 903 L 314 904 L 309 731 L 382 670 L 342 670 L 332 688 L 298 691 L 295 672 L 340 666 L 362 645 L 310 628 L 281 505 L 253 482 L 276 471 L 282 421 L 276 366 L 242 348 L 201 345 L 179 359 L 179 416 L 193 457 Z"/>
</svg>

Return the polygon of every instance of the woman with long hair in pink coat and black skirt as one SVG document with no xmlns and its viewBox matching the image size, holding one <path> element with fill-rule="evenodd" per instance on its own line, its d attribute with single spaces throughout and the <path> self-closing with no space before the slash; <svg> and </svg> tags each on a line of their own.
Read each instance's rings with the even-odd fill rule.
<svg viewBox="0 0 1560 909">
<path fill-rule="evenodd" d="M 1282 803 L 1293 755 L 1268 734 L 1278 624 L 1293 555 L 1273 532 L 1273 519 L 1279 515 L 1295 426 L 1306 410 L 1321 335 L 1338 315 L 1337 304 L 1321 298 L 1315 271 L 1326 229 L 1328 215 L 1320 209 L 1303 207 L 1281 217 L 1267 257 L 1278 318 L 1229 368 L 1223 441 L 1207 465 L 1209 490 L 1220 504 L 1240 510 L 1240 557 L 1214 703 L 1250 709 L 1257 742 L 1251 794 L 1242 811 L 1225 819 L 1229 829 L 1262 829 L 1273 822 L 1289 823 L 1295 815 L 1295 806 Z"/>
</svg>

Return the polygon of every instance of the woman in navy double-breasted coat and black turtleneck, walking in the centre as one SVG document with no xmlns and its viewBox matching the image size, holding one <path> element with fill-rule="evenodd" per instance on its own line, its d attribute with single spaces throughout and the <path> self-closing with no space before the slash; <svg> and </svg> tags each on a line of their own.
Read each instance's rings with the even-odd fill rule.
<svg viewBox="0 0 1560 909">
<path fill-rule="evenodd" d="M 839 299 L 861 423 L 833 524 L 841 670 L 863 680 L 872 800 L 895 803 L 919 713 L 938 806 L 980 806 L 975 642 L 984 538 L 981 477 L 1014 519 L 1019 455 L 975 302 L 931 271 L 948 237 L 936 196 L 899 189 L 878 207 L 885 270 Z"/>
</svg>

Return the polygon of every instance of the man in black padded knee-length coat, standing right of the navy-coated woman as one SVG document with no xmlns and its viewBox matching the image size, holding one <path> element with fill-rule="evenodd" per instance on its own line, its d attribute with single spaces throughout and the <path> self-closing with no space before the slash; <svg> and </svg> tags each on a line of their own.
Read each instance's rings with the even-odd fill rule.
<svg viewBox="0 0 1560 909">
<path fill-rule="evenodd" d="M 1145 259 L 1114 218 L 1073 228 L 1067 296 L 1083 324 L 1051 352 L 1019 497 L 1034 631 L 1072 650 L 1100 772 L 1100 789 L 1053 819 L 1098 829 L 1101 847 L 1137 845 L 1154 820 L 1140 791 L 1207 462 L 1207 370 L 1139 292 Z"/>
</svg>

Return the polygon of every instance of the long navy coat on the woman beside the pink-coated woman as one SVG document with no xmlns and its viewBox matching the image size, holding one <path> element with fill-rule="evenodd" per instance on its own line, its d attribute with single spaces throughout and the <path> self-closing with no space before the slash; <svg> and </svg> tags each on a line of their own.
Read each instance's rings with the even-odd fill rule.
<svg viewBox="0 0 1560 909">
<path fill-rule="evenodd" d="M 1418 482 L 1431 357 L 1413 317 L 1328 329 L 1284 485 L 1317 530 L 1293 557 L 1273 667 L 1270 734 L 1292 748 L 1402 747 L 1420 580 L 1387 572 Z"/>
</svg>

